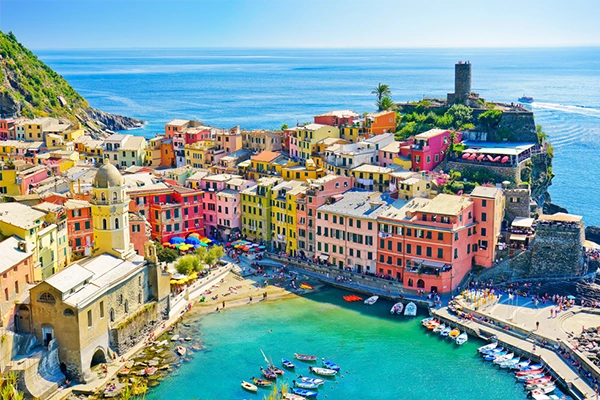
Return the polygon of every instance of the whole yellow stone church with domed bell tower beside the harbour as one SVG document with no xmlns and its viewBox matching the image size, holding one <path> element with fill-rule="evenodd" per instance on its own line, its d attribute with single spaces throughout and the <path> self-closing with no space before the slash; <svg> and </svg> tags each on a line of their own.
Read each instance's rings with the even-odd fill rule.
<svg viewBox="0 0 600 400">
<path fill-rule="evenodd" d="M 152 242 L 133 249 L 129 197 L 117 168 L 105 162 L 92 183 L 92 256 L 30 290 L 20 331 L 58 347 L 61 371 L 85 382 L 91 368 L 124 353 L 169 312 L 169 274 L 158 267 Z"/>
</svg>

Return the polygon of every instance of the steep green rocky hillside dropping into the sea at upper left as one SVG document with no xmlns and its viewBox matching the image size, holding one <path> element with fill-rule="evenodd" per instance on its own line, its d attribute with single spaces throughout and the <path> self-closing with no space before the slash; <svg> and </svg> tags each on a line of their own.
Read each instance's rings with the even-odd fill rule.
<svg viewBox="0 0 600 400">
<path fill-rule="evenodd" d="M 12 33 L 0 31 L 0 118 L 68 118 L 90 130 L 123 130 L 143 121 L 96 110 Z"/>
</svg>

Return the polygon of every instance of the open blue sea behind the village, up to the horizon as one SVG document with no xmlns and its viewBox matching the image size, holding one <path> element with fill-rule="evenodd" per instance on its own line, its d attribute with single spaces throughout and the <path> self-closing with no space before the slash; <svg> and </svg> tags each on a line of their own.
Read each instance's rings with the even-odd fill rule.
<svg viewBox="0 0 600 400">
<path fill-rule="evenodd" d="M 38 50 L 93 107 L 135 117 L 154 137 L 171 119 L 278 129 L 335 109 L 375 108 L 453 92 L 454 64 L 473 64 L 487 100 L 523 95 L 555 151 L 552 201 L 600 225 L 600 48 Z"/>
</svg>

